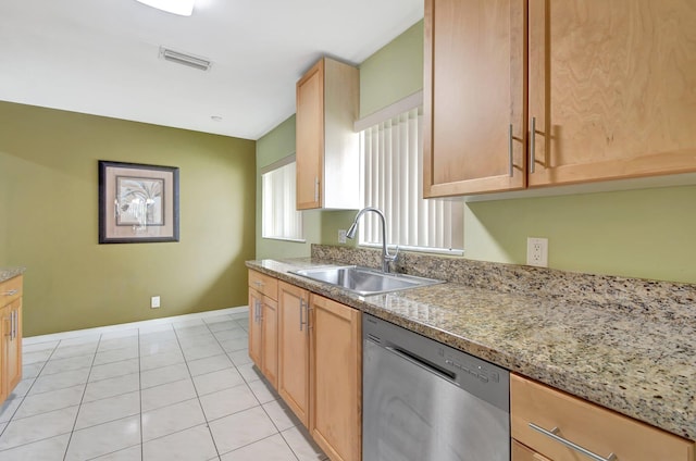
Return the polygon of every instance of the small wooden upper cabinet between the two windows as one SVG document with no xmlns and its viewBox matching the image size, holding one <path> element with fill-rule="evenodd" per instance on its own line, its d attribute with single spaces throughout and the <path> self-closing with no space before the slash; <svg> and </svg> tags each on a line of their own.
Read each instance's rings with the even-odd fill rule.
<svg viewBox="0 0 696 461">
<path fill-rule="evenodd" d="M 359 209 L 359 71 L 328 58 L 297 83 L 297 209 Z"/>
</svg>

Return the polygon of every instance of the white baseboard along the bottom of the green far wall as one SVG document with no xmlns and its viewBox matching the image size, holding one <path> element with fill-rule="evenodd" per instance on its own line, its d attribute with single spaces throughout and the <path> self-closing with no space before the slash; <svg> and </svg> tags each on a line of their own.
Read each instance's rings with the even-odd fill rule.
<svg viewBox="0 0 696 461">
<path fill-rule="evenodd" d="M 48 341 L 54 341 L 60 339 L 75 338 L 78 336 L 113 333 L 113 332 L 121 332 L 124 329 L 152 327 L 156 325 L 163 325 L 167 323 L 189 322 L 189 321 L 195 322 L 197 320 L 199 320 L 200 322 L 203 322 L 203 319 L 210 319 L 210 317 L 225 315 L 225 314 L 244 313 L 244 312 L 249 312 L 248 306 L 240 306 L 237 308 L 227 308 L 227 309 L 217 309 L 214 311 L 196 312 L 192 314 L 174 315 L 169 317 L 144 320 L 139 322 L 120 323 L 117 325 L 97 326 L 95 328 L 75 329 L 72 332 L 61 332 L 61 333 L 51 333 L 48 335 L 29 336 L 29 337 L 23 338 L 22 344 L 32 345 L 37 342 L 48 342 Z"/>
</svg>

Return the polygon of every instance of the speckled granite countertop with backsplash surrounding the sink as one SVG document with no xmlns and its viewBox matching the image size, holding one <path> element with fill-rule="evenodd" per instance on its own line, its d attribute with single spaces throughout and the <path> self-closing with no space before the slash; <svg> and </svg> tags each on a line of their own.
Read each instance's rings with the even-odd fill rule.
<svg viewBox="0 0 696 461">
<path fill-rule="evenodd" d="M 312 248 L 247 266 L 620 413 L 696 440 L 696 286 L 406 253 L 398 272 L 449 283 L 359 297 L 288 273 L 376 266 Z"/>
</svg>

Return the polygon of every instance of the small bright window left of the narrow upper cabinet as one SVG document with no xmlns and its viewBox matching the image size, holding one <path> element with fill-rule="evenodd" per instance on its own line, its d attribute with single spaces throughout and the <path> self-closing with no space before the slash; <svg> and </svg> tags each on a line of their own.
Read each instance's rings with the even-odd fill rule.
<svg viewBox="0 0 696 461">
<path fill-rule="evenodd" d="M 261 171 L 261 236 L 304 241 L 302 213 L 295 205 L 295 155 Z"/>
</svg>

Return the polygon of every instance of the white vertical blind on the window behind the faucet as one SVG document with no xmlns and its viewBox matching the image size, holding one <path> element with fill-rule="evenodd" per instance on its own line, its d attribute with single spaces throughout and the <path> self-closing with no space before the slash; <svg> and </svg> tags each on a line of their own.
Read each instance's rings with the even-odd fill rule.
<svg viewBox="0 0 696 461">
<path fill-rule="evenodd" d="M 463 250 L 460 201 L 423 199 L 423 116 L 412 109 L 360 133 L 360 163 L 364 207 L 382 210 L 387 242 L 407 249 Z M 381 245 L 374 213 L 363 215 L 360 245 Z"/>
</svg>

